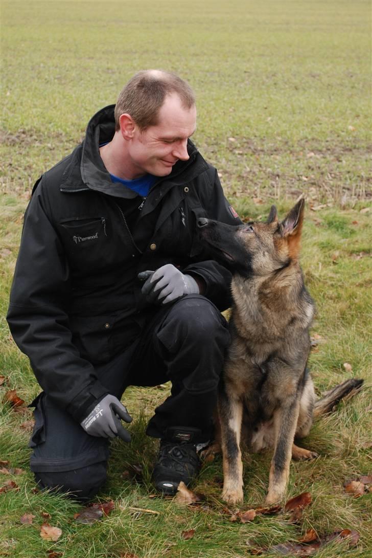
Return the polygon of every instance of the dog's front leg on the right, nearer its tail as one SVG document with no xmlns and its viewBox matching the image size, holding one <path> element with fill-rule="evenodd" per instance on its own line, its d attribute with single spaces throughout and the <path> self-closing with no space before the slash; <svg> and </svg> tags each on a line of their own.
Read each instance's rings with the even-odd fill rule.
<svg viewBox="0 0 372 558">
<path fill-rule="evenodd" d="M 291 403 L 279 407 L 274 415 L 276 440 L 270 467 L 269 490 L 266 497 L 267 504 L 281 501 L 286 492 L 298 413 L 299 401 L 296 398 Z"/>
</svg>

